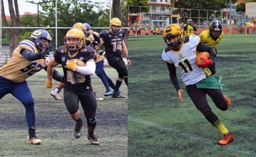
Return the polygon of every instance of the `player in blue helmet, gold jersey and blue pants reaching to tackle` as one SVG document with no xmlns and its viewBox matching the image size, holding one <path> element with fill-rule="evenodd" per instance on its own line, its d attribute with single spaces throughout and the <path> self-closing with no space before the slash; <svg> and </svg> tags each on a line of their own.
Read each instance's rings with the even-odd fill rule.
<svg viewBox="0 0 256 157">
<path fill-rule="evenodd" d="M 48 31 L 37 29 L 30 35 L 30 40 L 21 41 L 12 53 L 6 65 L 0 67 L 0 99 L 12 94 L 25 107 L 28 124 L 28 143 L 39 145 L 41 139 L 35 135 L 35 111 L 32 92 L 26 79 L 41 69 L 47 70 L 49 49 L 52 37 Z M 62 75 L 54 70 L 54 79 L 62 80 Z"/>
</svg>

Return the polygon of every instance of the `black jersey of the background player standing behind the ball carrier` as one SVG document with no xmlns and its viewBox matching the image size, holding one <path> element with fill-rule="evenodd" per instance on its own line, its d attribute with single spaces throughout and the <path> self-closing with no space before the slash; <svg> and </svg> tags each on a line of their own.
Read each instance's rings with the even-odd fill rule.
<svg viewBox="0 0 256 157">
<path fill-rule="evenodd" d="M 123 52 L 122 44 L 123 38 L 125 37 L 125 31 L 121 29 L 114 35 L 109 30 L 103 30 L 100 32 L 100 37 L 104 41 L 107 59 L 121 57 Z"/>
</svg>

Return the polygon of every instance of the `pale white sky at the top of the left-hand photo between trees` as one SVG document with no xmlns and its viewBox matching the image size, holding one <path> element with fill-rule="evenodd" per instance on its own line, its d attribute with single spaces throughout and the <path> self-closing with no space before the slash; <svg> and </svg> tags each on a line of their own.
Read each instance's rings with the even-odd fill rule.
<svg viewBox="0 0 256 157">
<path fill-rule="evenodd" d="M 18 9 L 19 9 L 20 15 L 24 14 L 24 12 L 31 12 L 32 14 L 37 14 L 37 4 L 29 3 L 26 1 L 33 1 L 35 3 L 41 2 L 39 0 L 18 0 Z M 106 4 L 106 1 L 108 0 L 91 0 L 91 1 L 102 2 Z M 3 4 L 5 7 L 5 15 L 10 15 L 8 0 L 3 0 Z M 39 11 L 40 10 L 41 10 L 41 7 L 39 5 Z"/>
</svg>

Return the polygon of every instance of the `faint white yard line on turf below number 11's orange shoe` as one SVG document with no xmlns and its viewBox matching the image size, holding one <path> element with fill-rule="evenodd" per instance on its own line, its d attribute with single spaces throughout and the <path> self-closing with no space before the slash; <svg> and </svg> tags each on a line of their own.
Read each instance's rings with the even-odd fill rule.
<svg viewBox="0 0 256 157">
<path fill-rule="evenodd" d="M 202 137 L 199 137 L 197 135 L 192 135 L 190 133 L 182 133 L 180 130 L 177 130 L 175 128 L 170 128 L 170 127 L 165 127 L 165 126 L 161 126 L 159 124 L 155 124 L 154 122 L 148 122 L 146 120 L 142 120 L 142 119 L 139 119 L 139 118 L 134 118 L 133 116 L 128 116 L 128 120 L 131 120 L 133 122 L 136 122 L 136 123 L 139 123 L 139 124 L 142 124 L 144 126 L 151 126 L 151 127 L 154 127 L 158 130 L 161 130 L 161 131 L 166 131 L 166 132 L 171 132 L 171 133 L 178 133 L 184 137 L 187 137 L 189 139 L 193 139 L 193 140 L 198 140 L 202 143 L 207 143 L 207 144 L 213 144 L 217 147 L 221 147 L 219 145 L 217 145 L 216 141 L 211 141 L 211 139 L 205 139 L 205 138 L 202 138 Z M 226 146 L 226 148 L 228 148 L 229 150 L 232 150 L 234 152 L 240 152 L 240 153 L 243 153 L 243 154 L 249 154 L 251 156 L 255 156 L 255 153 L 256 152 L 253 152 L 251 150 L 246 150 L 245 148 L 242 148 L 242 147 L 228 147 Z"/>
</svg>

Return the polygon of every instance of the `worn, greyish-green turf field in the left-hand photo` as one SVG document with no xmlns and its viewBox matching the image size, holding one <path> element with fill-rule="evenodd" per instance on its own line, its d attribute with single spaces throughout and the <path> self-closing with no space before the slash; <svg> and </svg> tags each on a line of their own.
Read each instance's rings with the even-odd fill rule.
<svg viewBox="0 0 256 157">
<path fill-rule="evenodd" d="M 109 67 L 105 70 L 116 82 L 116 70 Z M 93 88 L 97 95 L 102 97 L 105 93 L 104 85 L 96 75 L 92 78 Z M 45 87 L 46 79 L 47 74 L 43 70 L 28 79 L 35 99 L 37 136 L 43 143 L 41 145 L 26 143 L 28 129 L 24 107 L 8 94 L 0 100 L 0 156 L 127 156 L 127 98 L 105 97 L 104 101 L 98 101 L 96 113 L 98 125 L 95 133 L 100 145 L 94 146 L 87 140 L 83 112 L 81 112 L 84 121 L 82 135 L 79 139 L 74 138 L 75 122 L 70 118 L 64 102 L 54 100 L 50 96 L 51 89 Z M 121 86 L 121 92 L 127 96 L 125 83 Z M 60 94 L 63 97 L 63 90 Z"/>
</svg>

